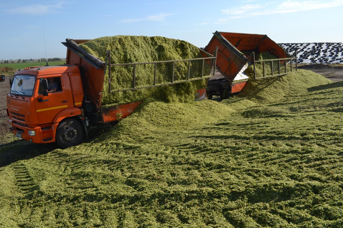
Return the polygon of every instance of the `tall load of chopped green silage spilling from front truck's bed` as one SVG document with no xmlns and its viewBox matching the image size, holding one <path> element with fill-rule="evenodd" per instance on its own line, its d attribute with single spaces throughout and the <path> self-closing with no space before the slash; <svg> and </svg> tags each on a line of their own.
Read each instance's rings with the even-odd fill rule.
<svg viewBox="0 0 343 228">
<path fill-rule="evenodd" d="M 89 40 L 80 45 L 88 53 L 105 61 L 106 50 L 111 51 L 111 64 L 139 63 L 167 60 L 202 58 L 199 49 L 182 40 L 165 37 L 112 36 Z M 188 62 L 179 62 L 175 66 L 174 80 L 187 75 Z M 111 90 L 126 89 L 132 86 L 133 66 L 115 66 L 111 68 Z M 156 83 L 165 82 L 171 75 L 171 64 L 158 64 Z M 154 65 L 137 65 L 136 86 L 153 85 Z M 126 92 L 108 92 L 108 71 L 105 75 L 102 104 L 114 105 L 140 101 L 154 97 L 165 101 L 187 102 L 194 100 L 194 92 L 205 88 L 205 80 L 198 80 L 171 86 L 139 89 Z"/>
</svg>

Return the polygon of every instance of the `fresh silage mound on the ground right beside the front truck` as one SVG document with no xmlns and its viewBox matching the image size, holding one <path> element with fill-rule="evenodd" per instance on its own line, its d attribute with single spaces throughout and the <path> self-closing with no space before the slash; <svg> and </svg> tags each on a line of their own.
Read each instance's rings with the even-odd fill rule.
<svg viewBox="0 0 343 228">
<path fill-rule="evenodd" d="M 166 103 L 149 98 L 133 114 L 122 119 L 107 137 L 100 141 L 116 141 L 118 138 L 131 140 L 142 137 L 163 138 L 165 132 L 187 131 L 199 126 L 211 125 L 235 112 L 231 107 L 212 100 L 199 102 Z"/>
</svg>

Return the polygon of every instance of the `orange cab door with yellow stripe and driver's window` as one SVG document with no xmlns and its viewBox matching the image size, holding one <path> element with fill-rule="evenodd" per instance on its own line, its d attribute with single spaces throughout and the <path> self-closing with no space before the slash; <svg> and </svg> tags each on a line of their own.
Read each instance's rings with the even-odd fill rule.
<svg viewBox="0 0 343 228">
<path fill-rule="evenodd" d="M 45 77 L 48 80 L 49 85 L 48 96 L 40 99 L 37 96 L 35 97 L 39 124 L 52 123 L 52 120 L 57 113 L 68 108 L 68 104 L 70 104 L 68 101 L 70 85 L 63 80 L 63 78 L 66 77 L 68 77 L 68 74 L 49 75 Z"/>
</svg>

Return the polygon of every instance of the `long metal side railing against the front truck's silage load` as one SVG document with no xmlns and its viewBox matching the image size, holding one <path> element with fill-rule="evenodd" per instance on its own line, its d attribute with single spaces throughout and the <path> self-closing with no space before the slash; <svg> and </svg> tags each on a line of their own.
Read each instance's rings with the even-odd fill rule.
<svg viewBox="0 0 343 228">
<path fill-rule="evenodd" d="M 108 65 L 108 89 L 113 93 L 209 78 L 214 76 L 215 64 L 216 53 L 213 57 L 197 59 L 111 64 L 108 50 L 105 71 Z M 127 75 L 128 72 L 131 72 L 132 78 L 120 76 Z M 112 78 L 113 74 L 115 77 Z"/>
</svg>

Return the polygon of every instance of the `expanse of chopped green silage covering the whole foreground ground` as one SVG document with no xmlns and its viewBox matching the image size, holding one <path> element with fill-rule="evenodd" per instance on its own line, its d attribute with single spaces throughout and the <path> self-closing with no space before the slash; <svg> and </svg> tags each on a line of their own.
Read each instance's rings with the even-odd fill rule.
<svg viewBox="0 0 343 228">
<path fill-rule="evenodd" d="M 343 83 L 254 83 L 222 102 L 147 99 L 92 142 L 0 168 L 0 225 L 342 227 Z"/>
</svg>

